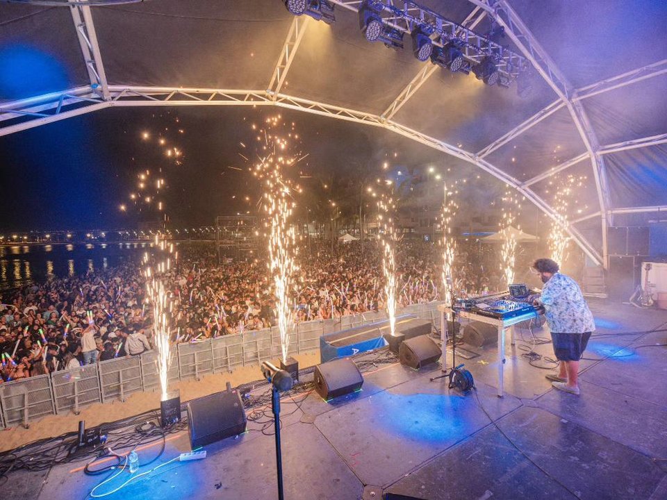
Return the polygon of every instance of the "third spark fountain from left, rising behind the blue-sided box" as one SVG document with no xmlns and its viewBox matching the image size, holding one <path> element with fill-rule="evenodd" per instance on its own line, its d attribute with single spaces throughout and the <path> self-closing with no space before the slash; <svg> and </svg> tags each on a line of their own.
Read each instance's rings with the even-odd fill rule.
<svg viewBox="0 0 667 500">
<path fill-rule="evenodd" d="M 377 201 L 377 219 L 382 229 L 378 235 L 382 247 L 382 272 L 384 274 L 384 294 L 386 297 L 389 331 L 395 335 L 396 330 L 396 242 L 397 232 L 394 226 L 393 213 L 396 206 L 392 197 L 383 196 Z"/>
</svg>

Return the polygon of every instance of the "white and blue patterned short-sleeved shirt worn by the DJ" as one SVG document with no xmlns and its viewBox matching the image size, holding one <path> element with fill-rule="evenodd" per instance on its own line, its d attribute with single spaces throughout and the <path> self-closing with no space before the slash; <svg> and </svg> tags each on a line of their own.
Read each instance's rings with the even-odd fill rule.
<svg viewBox="0 0 667 500">
<path fill-rule="evenodd" d="M 540 302 L 547 324 L 553 332 L 584 333 L 595 331 L 593 314 L 588 309 L 577 282 L 564 274 L 554 274 L 542 289 Z"/>
</svg>

